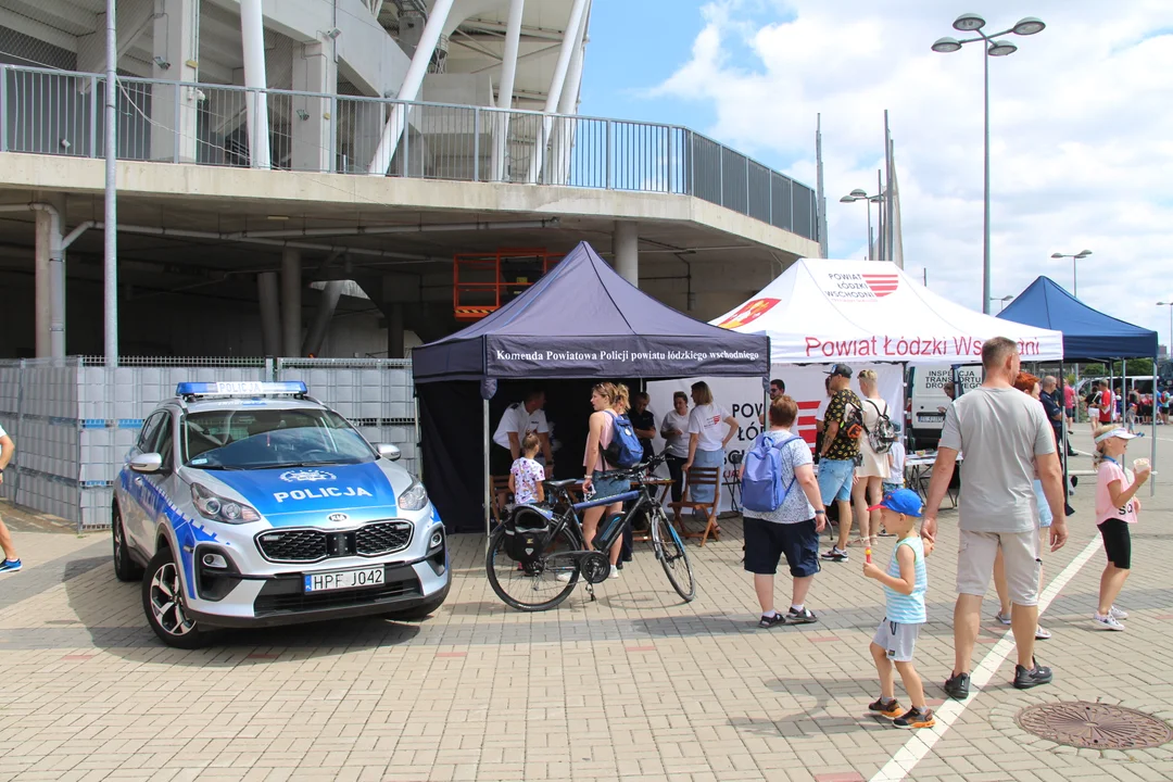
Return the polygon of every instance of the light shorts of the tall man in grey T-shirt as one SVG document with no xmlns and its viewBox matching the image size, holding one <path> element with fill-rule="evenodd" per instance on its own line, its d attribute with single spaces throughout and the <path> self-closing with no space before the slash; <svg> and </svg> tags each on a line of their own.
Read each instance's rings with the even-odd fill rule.
<svg viewBox="0 0 1173 782">
<path fill-rule="evenodd" d="M 961 531 L 957 545 L 957 593 L 984 597 L 994 576 L 994 559 L 1002 548 L 1006 565 L 1006 585 L 1015 605 L 1038 605 L 1038 531 L 967 532 Z"/>
</svg>

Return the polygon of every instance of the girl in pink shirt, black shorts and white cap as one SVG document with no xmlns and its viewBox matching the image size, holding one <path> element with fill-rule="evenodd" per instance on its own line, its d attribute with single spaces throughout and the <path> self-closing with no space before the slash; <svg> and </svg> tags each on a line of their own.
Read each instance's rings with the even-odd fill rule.
<svg viewBox="0 0 1173 782">
<path fill-rule="evenodd" d="M 1148 481 L 1152 471 L 1144 460 L 1134 463 L 1135 474 L 1124 467 L 1124 454 L 1133 437 L 1134 434 L 1113 426 L 1096 430 L 1096 462 L 1099 469 L 1096 483 L 1096 525 L 1104 538 L 1104 552 L 1107 555 L 1107 566 L 1100 576 L 1099 606 L 1093 619 L 1100 630 L 1124 630 L 1119 620 L 1128 616 L 1112 603 L 1124 589 L 1132 567 L 1128 524 L 1135 524 L 1137 514 L 1140 512 L 1140 501 L 1135 498 L 1135 494 Z"/>
</svg>

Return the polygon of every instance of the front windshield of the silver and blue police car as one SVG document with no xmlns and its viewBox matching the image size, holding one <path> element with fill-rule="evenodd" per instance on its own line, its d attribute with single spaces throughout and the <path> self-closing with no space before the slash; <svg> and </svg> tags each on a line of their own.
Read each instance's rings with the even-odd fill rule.
<svg viewBox="0 0 1173 782">
<path fill-rule="evenodd" d="M 331 410 L 201 410 L 185 414 L 179 429 L 183 463 L 203 470 L 359 464 L 377 458 L 346 419 Z"/>
</svg>

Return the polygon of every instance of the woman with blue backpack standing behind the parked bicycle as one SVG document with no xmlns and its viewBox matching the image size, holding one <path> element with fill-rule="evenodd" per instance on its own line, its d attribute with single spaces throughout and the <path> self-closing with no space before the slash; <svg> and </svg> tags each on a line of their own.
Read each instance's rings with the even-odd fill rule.
<svg viewBox="0 0 1173 782">
<path fill-rule="evenodd" d="M 619 465 L 609 464 L 603 457 L 615 437 L 616 419 L 628 410 L 628 387 L 622 383 L 598 383 L 591 388 L 590 403 L 595 412 L 590 416 L 590 434 L 586 435 L 586 453 L 583 456 L 583 495 L 585 496 L 594 490 L 592 497 L 602 499 L 621 495 L 628 491 L 631 485 L 626 478 L 606 475 L 608 470 L 618 469 Z M 586 545 L 590 546 L 591 540 L 595 539 L 595 532 L 598 530 L 599 519 L 603 518 L 604 514 L 610 516 L 622 512 L 622 502 L 596 505 L 583 511 L 583 537 L 586 539 Z M 619 562 L 622 546 L 622 537 L 616 538 L 608 552 L 611 560 L 610 578 L 619 577 L 616 564 Z M 569 579 L 569 573 L 567 573 L 567 579 Z"/>
</svg>

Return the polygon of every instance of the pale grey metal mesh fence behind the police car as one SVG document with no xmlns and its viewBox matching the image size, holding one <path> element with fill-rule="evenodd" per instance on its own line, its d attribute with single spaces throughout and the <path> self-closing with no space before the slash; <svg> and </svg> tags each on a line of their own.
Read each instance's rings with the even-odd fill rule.
<svg viewBox="0 0 1173 782">
<path fill-rule="evenodd" d="M 0 360 L 0 427 L 16 455 L 0 496 L 60 516 L 79 531 L 110 524 L 114 481 L 143 420 L 177 383 L 304 380 L 371 442 L 399 446 L 419 474 L 409 361 L 386 359 L 101 358 Z"/>
</svg>

